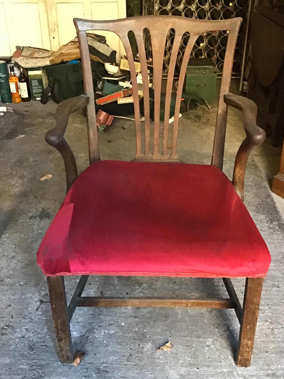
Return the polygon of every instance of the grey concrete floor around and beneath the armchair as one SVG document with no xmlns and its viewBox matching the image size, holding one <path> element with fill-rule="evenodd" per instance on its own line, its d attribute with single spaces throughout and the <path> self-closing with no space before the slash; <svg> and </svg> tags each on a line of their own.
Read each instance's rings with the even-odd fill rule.
<svg viewBox="0 0 284 379">
<path fill-rule="evenodd" d="M 86 351 L 79 367 L 59 363 L 45 277 L 36 265 L 36 251 L 64 198 L 65 174 L 59 153 L 44 141 L 53 127 L 56 104 L 13 105 L 0 117 L 0 378 L 283 378 L 284 200 L 270 191 L 278 172 L 280 149 L 269 138 L 251 154 L 247 167 L 245 204 L 272 255 L 264 281 L 261 310 L 250 368 L 237 368 L 234 353 L 238 321 L 233 310 L 198 309 L 77 309 L 71 323 L 74 345 Z M 210 163 L 214 136 L 212 113 L 201 111 L 201 123 L 188 114 L 180 119 L 178 155 L 185 162 Z M 225 173 L 231 177 L 234 155 L 244 132 L 239 111 L 229 110 Z M 78 169 L 87 167 L 85 119 L 70 118 L 66 133 Z M 134 156 L 134 126 L 115 119 L 100 133 L 102 159 Z M 53 178 L 39 181 L 43 174 Z M 282 215 L 282 216 L 281 216 Z M 68 278 L 70 297 L 76 278 Z M 243 280 L 233 281 L 243 294 Z M 220 280 L 145 277 L 91 277 L 86 295 L 147 294 L 179 296 L 225 294 Z M 170 340 L 171 352 L 156 348 Z"/>
</svg>

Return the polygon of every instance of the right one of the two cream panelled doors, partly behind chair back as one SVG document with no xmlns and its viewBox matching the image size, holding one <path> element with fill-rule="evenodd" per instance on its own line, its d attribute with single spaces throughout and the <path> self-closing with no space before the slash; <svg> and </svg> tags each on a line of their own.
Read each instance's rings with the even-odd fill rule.
<svg viewBox="0 0 284 379">
<path fill-rule="evenodd" d="M 0 0 L 2 1 L 2 0 Z M 73 18 L 115 20 L 126 17 L 126 0 L 46 0 L 51 50 L 57 50 L 76 37 Z M 118 36 L 107 31 L 108 45 L 117 51 L 117 60 L 124 54 Z"/>
</svg>

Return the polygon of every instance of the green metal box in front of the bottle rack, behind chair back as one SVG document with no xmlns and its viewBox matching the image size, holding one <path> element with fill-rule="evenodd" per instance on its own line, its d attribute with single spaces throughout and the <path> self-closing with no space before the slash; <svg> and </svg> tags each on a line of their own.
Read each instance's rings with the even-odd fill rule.
<svg viewBox="0 0 284 379">
<path fill-rule="evenodd" d="M 192 58 L 186 69 L 183 92 L 203 97 L 208 103 L 216 101 L 217 74 L 211 58 Z"/>
</svg>

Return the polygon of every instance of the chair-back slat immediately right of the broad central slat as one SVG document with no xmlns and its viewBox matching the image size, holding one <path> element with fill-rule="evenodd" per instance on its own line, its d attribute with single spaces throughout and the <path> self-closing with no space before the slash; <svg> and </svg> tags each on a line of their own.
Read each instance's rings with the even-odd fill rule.
<svg viewBox="0 0 284 379">
<path fill-rule="evenodd" d="M 165 119 L 164 119 L 164 137 L 163 137 L 163 158 L 168 158 L 168 135 L 169 135 L 169 118 L 170 118 L 170 102 L 172 97 L 173 75 L 175 74 L 176 57 L 178 56 L 178 48 L 182 35 L 175 33 L 173 40 L 173 48 L 170 56 L 170 64 L 167 79 L 166 99 L 165 99 Z"/>
</svg>

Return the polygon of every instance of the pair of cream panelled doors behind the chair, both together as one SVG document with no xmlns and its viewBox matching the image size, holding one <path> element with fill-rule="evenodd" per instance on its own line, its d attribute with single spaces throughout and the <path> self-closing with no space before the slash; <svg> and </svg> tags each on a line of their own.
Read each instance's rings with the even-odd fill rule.
<svg viewBox="0 0 284 379">
<path fill-rule="evenodd" d="M 113 20 L 126 17 L 126 0 L 0 0 L 0 56 L 15 46 L 58 50 L 75 38 L 73 18 Z M 116 34 L 101 31 L 107 43 L 124 53 Z"/>
</svg>

